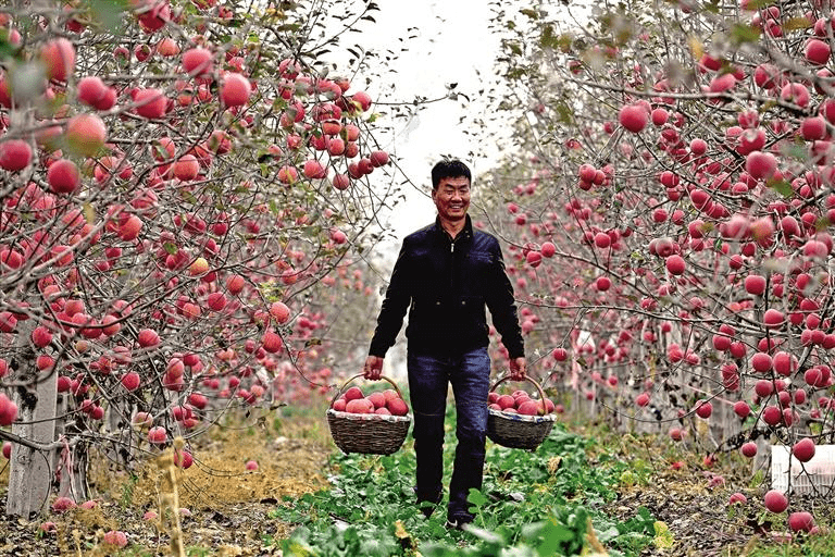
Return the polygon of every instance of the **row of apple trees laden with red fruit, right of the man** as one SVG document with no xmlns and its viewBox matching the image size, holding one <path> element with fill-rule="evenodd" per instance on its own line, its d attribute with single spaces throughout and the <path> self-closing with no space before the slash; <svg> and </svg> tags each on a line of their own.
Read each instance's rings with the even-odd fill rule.
<svg viewBox="0 0 835 557">
<path fill-rule="evenodd" d="M 495 22 L 515 133 L 479 203 L 535 368 L 708 463 L 832 442 L 831 3 L 572 13 Z"/>
</svg>

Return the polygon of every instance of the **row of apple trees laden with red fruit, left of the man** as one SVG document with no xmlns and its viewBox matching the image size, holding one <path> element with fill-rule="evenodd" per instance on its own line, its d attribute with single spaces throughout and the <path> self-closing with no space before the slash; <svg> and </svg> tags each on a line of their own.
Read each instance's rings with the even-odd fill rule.
<svg viewBox="0 0 835 557">
<path fill-rule="evenodd" d="M 297 9 L 2 9 L 9 513 L 52 481 L 89 497 L 92 446 L 132 467 L 180 436 L 188 467 L 219 412 L 331 383 L 314 331 L 337 297 L 367 298 L 353 255 L 392 188 L 370 185 L 388 164 L 370 96 L 317 58 L 340 48 L 313 23 L 328 7 Z"/>
</svg>

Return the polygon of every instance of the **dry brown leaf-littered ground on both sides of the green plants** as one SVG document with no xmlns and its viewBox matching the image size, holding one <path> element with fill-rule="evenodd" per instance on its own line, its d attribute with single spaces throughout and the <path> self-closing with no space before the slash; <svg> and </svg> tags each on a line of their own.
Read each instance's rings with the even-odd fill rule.
<svg viewBox="0 0 835 557">
<path fill-rule="evenodd" d="M 202 440 L 194 447 L 195 465 L 176 472 L 180 531 L 189 555 L 278 555 L 264 539 L 286 537 L 291 525 L 271 519 L 270 510 L 285 495 L 326 485 L 323 474 L 334 446 L 324 417 L 261 416 L 238 423 Z M 637 448 L 624 443 L 621 457 L 633 460 Z M 258 462 L 258 470 L 246 469 L 249 460 Z M 648 480 L 634 485 L 623 482 L 616 500 L 607 509 L 627 520 L 646 507 L 666 524 L 670 546 L 648 548 L 641 555 L 745 555 L 752 540 L 785 534 L 762 511 L 762 488 L 751 485 L 750 468 L 732 458 L 720 459 L 710 468 L 695 460 L 676 468 L 663 455 L 648 450 L 644 462 Z M 0 461 L 5 465 L 8 461 Z M 124 555 L 171 555 L 172 521 L 159 518 L 171 518 L 160 507 L 160 495 L 171 492 L 162 481 L 163 472 L 149 461 L 130 476 L 98 461 L 90 478 L 94 508 L 50 513 L 34 521 L 0 516 L 0 556 L 110 555 L 113 547 L 102 542 L 110 530 L 125 532 L 130 543 L 142 548 Z M 3 508 L 8 474 L 5 466 L 0 473 Z M 734 491 L 741 491 L 749 503 L 730 511 L 727 500 Z M 818 507 L 819 523 L 832 523 L 834 506 L 810 505 Z M 149 511 L 158 517 L 147 519 Z M 52 523 L 49 531 L 41 529 L 45 523 Z"/>
</svg>

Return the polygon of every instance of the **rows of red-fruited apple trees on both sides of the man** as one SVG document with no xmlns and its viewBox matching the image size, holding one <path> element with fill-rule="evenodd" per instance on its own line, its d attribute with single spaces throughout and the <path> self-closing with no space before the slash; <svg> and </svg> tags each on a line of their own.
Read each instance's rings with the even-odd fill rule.
<svg viewBox="0 0 835 557">
<path fill-rule="evenodd" d="M 0 436 L 55 451 L 63 494 L 90 445 L 130 466 L 209 408 L 327 398 L 316 358 L 341 347 L 313 331 L 367 304 L 357 262 L 394 196 L 372 99 L 315 64 L 310 13 L 94 8 L 2 15 Z M 835 411 L 832 5 L 564 15 L 493 22 L 513 154 L 471 210 L 506 242 L 532 374 L 558 411 L 705 467 L 773 443 L 810 460 Z"/>
</svg>

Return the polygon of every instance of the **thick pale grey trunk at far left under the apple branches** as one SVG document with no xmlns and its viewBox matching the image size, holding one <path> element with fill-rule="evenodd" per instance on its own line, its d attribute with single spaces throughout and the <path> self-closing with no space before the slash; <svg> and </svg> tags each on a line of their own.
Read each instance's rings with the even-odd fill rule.
<svg viewBox="0 0 835 557">
<path fill-rule="evenodd" d="M 38 371 L 34 364 L 35 355 L 27 347 L 28 333 L 22 331 L 17 335 L 21 345 L 17 347 L 15 379 L 34 384 Z M 48 377 L 38 379 L 43 381 L 30 388 L 17 387 L 14 393 L 18 417 L 12 424 L 12 433 L 39 445 L 50 445 L 55 441 L 58 373 L 52 372 Z M 50 453 L 16 444 L 9 473 L 7 515 L 30 517 L 47 508 L 53 479 Z"/>
</svg>

